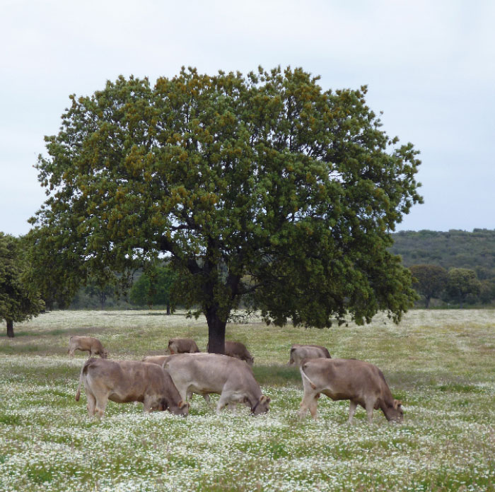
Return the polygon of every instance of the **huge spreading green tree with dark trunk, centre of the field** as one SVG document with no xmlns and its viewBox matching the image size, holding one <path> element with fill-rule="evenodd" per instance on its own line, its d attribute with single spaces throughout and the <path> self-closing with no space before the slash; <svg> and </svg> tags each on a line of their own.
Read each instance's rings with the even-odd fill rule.
<svg viewBox="0 0 495 492">
<path fill-rule="evenodd" d="M 290 68 L 182 69 L 154 87 L 121 76 L 72 95 L 37 163 L 49 196 L 35 243 L 70 259 L 64 279 L 124 280 L 168 256 L 214 352 L 241 299 L 276 324 L 363 323 L 378 310 L 399 320 L 415 293 L 387 248 L 421 201 L 420 161 L 365 96 Z"/>
</svg>

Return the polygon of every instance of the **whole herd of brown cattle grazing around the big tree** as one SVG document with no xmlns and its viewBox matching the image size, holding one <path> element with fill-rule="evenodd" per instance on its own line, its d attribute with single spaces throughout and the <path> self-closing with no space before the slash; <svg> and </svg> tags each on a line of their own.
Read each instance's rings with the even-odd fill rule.
<svg viewBox="0 0 495 492">
<path fill-rule="evenodd" d="M 236 404 L 250 407 L 254 415 L 269 410 L 270 399 L 262 394 L 252 372 L 254 358 L 238 341 L 226 341 L 226 355 L 219 355 L 200 352 L 192 339 L 175 338 L 168 342 L 168 355 L 148 356 L 142 361 L 109 361 L 98 339 L 71 336 L 69 355 L 74 356 L 76 350 L 89 352 L 81 368 L 76 401 L 83 384 L 90 416 L 103 416 L 109 399 L 117 403 L 141 402 L 146 412 L 168 410 L 187 416 L 187 400 L 193 393 L 206 401 L 209 394 L 220 394 L 217 411 L 225 406 L 235 409 Z M 298 365 L 303 380 L 301 418 L 308 410 L 316 418 L 318 398 L 326 394 L 333 400 L 350 400 L 349 423 L 358 405 L 366 409 L 369 423 L 373 409 L 381 409 L 388 421 L 402 422 L 402 403 L 392 397 L 382 371 L 375 365 L 331 358 L 325 347 L 301 344 L 291 346 L 289 364 Z"/>
</svg>

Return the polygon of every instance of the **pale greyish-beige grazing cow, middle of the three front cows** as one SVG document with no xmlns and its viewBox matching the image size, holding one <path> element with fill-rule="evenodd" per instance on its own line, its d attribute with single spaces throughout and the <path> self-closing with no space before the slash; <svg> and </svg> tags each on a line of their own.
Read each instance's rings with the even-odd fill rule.
<svg viewBox="0 0 495 492">
<path fill-rule="evenodd" d="M 190 392 L 220 394 L 216 411 L 224 406 L 243 403 L 258 415 L 269 410 L 270 399 L 262 394 L 248 365 L 236 358 L 218 353 L 196 353 L 171 356 L 163 364 L 179 390 L 182 399 Z"/>
</svg>

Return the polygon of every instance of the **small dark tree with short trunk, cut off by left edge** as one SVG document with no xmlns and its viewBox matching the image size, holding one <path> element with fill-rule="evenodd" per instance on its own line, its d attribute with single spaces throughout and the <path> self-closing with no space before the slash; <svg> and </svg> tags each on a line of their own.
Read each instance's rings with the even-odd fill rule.
<svg viewBox="0 0 495 492">
<path fill-rule="evenodd" d="M 0 233 L 0 320 L 13 338 L 13 323 L 37 316 L 45 307 L 30 278 L 21 239 Z"/>
</svg>

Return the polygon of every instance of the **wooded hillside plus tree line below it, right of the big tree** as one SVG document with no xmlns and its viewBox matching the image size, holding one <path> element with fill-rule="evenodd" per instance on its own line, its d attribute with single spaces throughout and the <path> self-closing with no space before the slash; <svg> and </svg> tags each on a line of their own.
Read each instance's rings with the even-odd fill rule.
<svg viewBox="0 0 495 492">
<path fill-rule="evenodd" d="M 392 253 L 402 257 L 425 307 L 495 303 L 495 230 L 401 231 Z"/>
</svg>

